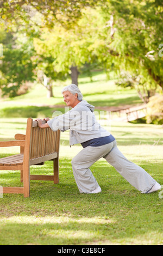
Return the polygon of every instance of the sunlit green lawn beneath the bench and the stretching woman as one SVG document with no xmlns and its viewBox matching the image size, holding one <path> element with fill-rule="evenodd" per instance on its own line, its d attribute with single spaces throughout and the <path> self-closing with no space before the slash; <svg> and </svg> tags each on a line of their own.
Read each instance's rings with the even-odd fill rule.
<svg viewBox="0 0 163 256">
<path fill-rule="evenodd" d="M 86 78 L 83 78 L 81 88 L 86 100 L 92 103 L 97 100 L 99 106 L 102 106 L 103 99 L 106 102 L 106 92 L 113 97 L 112 106 L 118 105 L 121 99 L 122 102 L 123 99 L 127 101 L 128 96 L 136 100 L 134 91 L 122 89 L 116 94 L 115 90 L 111 90 L 111 84 L 106 86 L 106 81 L 103 81 L 106 91 L 96 88 L 91 95 L 93 83 L 95 86 L 97 81 L 90 83 L 90 88 L 84 79 Z M 57 89 L 57 99 L 51 99 L 55 104 L 62 101 L 59 96 L 60 89 L 61 87 Z M 13 107 L 23 106 L 20 103 L 23 99 L 20 97 L 8 103 L 7 100 L 2 101 L 0 111 L 8 106 L 12 109 L 10 113 L 14 114 Z M 24 103 L 28 102 L 26 96 L 22 97 Z M 43 99 L 40 102 L 48 103 L 45 96 Z M 32 96 L 30 100 L 34 102 Z M 39 103 L 38 99 L 36 103 Z M 29 112 L 28 114 L 31 113 Z M 27 111 L 24 110 L 24 113 Z M 43 114 L 47 113 L 37 112 L 40 117 Z M 15 133 L 24 133 L 26 121 L 26 117 L 1 115 L 1 141 L 13 139 Z M 118 148 L 129 160 L 139 164 L 163 184 L 161 125 L 111 121 L 111 126 L 105 128 L 111 130 L 117 139 Z M 101 159 L 93 164 L 91 170 L 102 188 L 102 193 L 80 194 L 73 177 L 71 160 L 82 147 L 74 145 L 70 148 L 68 138 L 68 131 L 61 133 L 59 184 L 32 180 L 29 198 L 24 198 L 22 194 L 3 194 L 0 198 L 0 245 L 163 245 L 163 193 L 141 194 Z M 0 157 L 3 157 L 17 154 L 19 149 L 16 147 L 0 150 Z M 50 175 L 52 168 L 52 162 L 49 161 L 44 166 L 31 167 L 30 173 Z M 21 186 L 20 172 L 1 171 L 0 185 Z"/>
</svg>

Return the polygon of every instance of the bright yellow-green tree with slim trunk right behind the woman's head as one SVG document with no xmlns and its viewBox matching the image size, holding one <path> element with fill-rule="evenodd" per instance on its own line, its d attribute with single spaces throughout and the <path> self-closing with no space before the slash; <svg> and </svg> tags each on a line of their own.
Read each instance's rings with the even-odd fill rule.
<svg viewBox="0 0 163 256">
<path fill-rule="evenodd" d="M 81 68 L 85 63 L 95 62 L 95 48 L 101 45 L 98 35 L 103 21 L 97 17 L 100 17 L 98 10 L 84 9 L 72 28 L 67 30 L 57 23 L 51 31 L 42 29 L 40 38 L 34 39 L 37 54 L 53 57 L 55 70 L 71 74 L 72 83 L 77 85 Z"/>
</svg>

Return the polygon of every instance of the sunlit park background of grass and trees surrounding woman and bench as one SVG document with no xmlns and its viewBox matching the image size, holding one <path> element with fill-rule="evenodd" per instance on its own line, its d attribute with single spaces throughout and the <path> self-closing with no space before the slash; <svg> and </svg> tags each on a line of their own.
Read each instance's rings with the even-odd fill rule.
<svg viewBox="0 0 163 256">
<path fill-rule="evenodd" d="M 99 121 L 162 185 L 162 11 L 159 0 L 0 1 L 0 140 L 26 132 L 28 117 L 64 113 L 61 89 L 76 83 L 99 113 L 147 107 L 130 122 L 112 111 L 109 124 Z M 81 149 L 61 133 L 59 184 L 30 181 L 30 198 L 3 194 L 0 244 L 162 245 L 162 192 L 141 194 L 101 159 L 91 170 L 102 193 L 79 194 L 71 159 Z M 20 184 L 20 172 L 1 171 L 1 186 Z"/>
</svg>

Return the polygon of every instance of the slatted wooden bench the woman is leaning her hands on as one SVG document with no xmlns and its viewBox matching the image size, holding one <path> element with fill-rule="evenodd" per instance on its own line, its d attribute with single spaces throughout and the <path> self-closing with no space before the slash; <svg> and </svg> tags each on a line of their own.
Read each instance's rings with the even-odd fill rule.
<svg viewBox="0 0 163 256">
<path fill-rule="evenodd" d="M 30 180 L 51 180 L 58 184 L 60 131 L 53 132 L 50 127 L 41 129 L 37 121 L 28 118 L 26 135 L 16 134 L 15 139 L 0 142 L 0 147 L 20 146 L 20 154 L 0 159 L 0 170 L 20 170 L 23 187 L 3 187 L 3 193 L 22 193 L 29 197 Z M 45 161 L 53 161 L 53 175 L 30 175 L 30 166 Z"/>
</svg>

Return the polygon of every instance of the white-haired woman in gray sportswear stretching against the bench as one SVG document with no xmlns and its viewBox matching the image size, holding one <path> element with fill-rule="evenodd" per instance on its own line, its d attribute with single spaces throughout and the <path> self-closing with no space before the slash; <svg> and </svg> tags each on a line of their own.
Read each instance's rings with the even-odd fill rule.
<svg viewBox="0 0 163 256">
<path fill-rule="evenodd" d="M 90 167 L 103 157 L 115 167 L 124 179 L 141 193 L 152 193 L 161 186 L 144 169 L 130 162 L 117 148 L 116 139 L 106 131 L 95 118 L 95 107 L 83 100 L 83 95 L 75 84 L 62 89 L 64 101 L 70 111 L 49 120 L 36 119 L 39 127 L 51 127 L 53 131 L 62 132 L 70 129 L 70 146 L 81 143 L 81 150 L 72 159 L 72 169 L 80 193 L 99 193 L 101 187 L 93 176 Z"/>
</svg>

